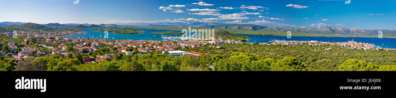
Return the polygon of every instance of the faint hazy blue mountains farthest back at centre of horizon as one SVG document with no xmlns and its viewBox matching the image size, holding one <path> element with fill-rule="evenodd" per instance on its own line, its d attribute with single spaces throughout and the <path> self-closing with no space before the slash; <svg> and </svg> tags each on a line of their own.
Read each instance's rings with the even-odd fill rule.
<svg viewBox="0 0 396 98">
<path fill-rule="evenodd" d="M 135 25 L 135 26 L 145 26 L 145 25 L 170 25 L 170 26 L 206 26 L 206 25 L 218 25 L 221 23 L 202 23 L 202 22 L 161 22 L 161 23 L 116 23 L 117 25 Z"/>
</svg>

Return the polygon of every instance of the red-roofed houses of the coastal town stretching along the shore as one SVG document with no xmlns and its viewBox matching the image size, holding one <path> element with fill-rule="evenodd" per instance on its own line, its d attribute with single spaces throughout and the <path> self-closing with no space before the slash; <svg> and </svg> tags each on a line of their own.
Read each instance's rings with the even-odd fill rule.
<svg viewBox="0 0 396 98">
<path fill-rule="evenodd" d="M 188 40 L 188 41 L 156 41 L 156 40 L 105 40 L 105 39 L 97 39 L 97 38 L 73 38 L 73 37 L 62 37 L 65 34 L 82 34 L 81 31 L 69 31 L 69 32 L 43 32 L 43 34 L 37 33 L 28 33 L 19 31 L 21 34 L 18 36 L 27 36 L 24 38 L 23 43 L 26 44 L 23 47 L 18 47 L 17 43 L 12 41 L 9 42 L 0 42 L 2 44 L 7 44 L 9 49 L 12 52 L 4 53 L 2 51 L 1 55 L 8 55 L 11 58 L 15 59 L 18 63 L 19 61 L 23 61 L 27 57 L 31 58 L 40 58 L 49 55 L 79 55 L 79 54 L 88 54 L 88 58 L 83 58 L 84 63 L 91 62 L 99 62 L 105 60 L 114 60 L 114 55 L 118 53 L 124 55 L 139 55 L 143 56 L 146 53 L 159 52 L 163 54 L 167 54 L 168 56 L 173 57 L 181 57 L 181 56 L 189 56 L 189 57 L 200 57 L 202 55 L 210 56 L 207 53 L 199 53 L 195 51 L 180 51 L 178 49 L 185 48 L 199 48 L 199 47 L 214 47 L 221 49 L 221 44 L 223 43 L 232 43 L 232 44 L 240 44 L 246 43 L 240 40 L 224 40 L 223 38 L 216 38 L 210 41 L 206 40 Z M 13 36 L 10 32 L 4 32 L 1 34 L 5 34 L 7 36 Z M 55 44 L 57 46 L 47 46 L 39 43 L 32 43 L 30 36 L 35 36 L 40 39 L 36 39 L 38 41 L 43 41 L 46 43 Z M 21 37 L 19 37 L 21 38 Z M 65 45 L 65 44 L 67 45 Z M 257 44 L 257 43 L 249 43 L 249 44 Z M 382 48 L 375 46 L 370 43 L 362 43 L 356 42 L 352 39 L 352 41 L 348 42 L 321 42 L 321 41 L 272 41 L 269 43 L 258 43 L 263 45 L 329 45 L 329 46 L 341 46 L 346 49 L 364 49 L 364 50 L 395 50 L 391 48 Z M 37 47 L 30 47 L 29 45 L 34 45 Z M 99 48 L 107 48 L 110 53 L 103 55 L 89 55 L 90 51 L 101 51 Z M 44 48 L 44 50 L 40 50 Z M 17 51 L 20 49 L 20 51 Z M 331 47 L 328 47 L 324 50 L 331 50 Z M 70 51 L 70 50 L 73 50 Z M 17 51 L 17 52 L 15 52 Z"/>
</svg>

